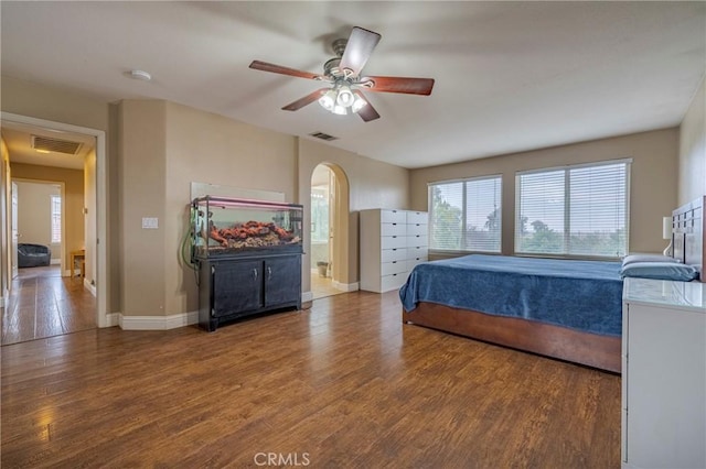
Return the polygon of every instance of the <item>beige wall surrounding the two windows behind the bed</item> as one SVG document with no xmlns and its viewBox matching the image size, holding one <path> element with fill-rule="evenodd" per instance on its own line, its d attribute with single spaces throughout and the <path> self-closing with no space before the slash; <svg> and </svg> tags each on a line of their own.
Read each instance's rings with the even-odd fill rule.
<svg viewBox="0 0 706 469">
<path fill-rule="evenodd" d="M 512 255 L 515 229 L 515 172 L 627 157 L 633 160 L 630 186 L 630 251 L 661 252 L 665 248 L 662 239 L 662 217 L 670 215 L 677 206 L 677 129 L 413 170 L 411 208 L 427 209 L 427 184 L 430 182 L 502 174 L 502 252 Z"/>
</svg>

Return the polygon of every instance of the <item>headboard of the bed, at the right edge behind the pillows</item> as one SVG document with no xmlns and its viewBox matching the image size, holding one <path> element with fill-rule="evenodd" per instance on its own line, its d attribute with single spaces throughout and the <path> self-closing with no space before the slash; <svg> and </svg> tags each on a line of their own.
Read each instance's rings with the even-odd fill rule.
<svg viewBox="0 0 706 469">
<path fill-rule="evenodd" d="M 706 264 L 706 253 L 704 252 L 705 206 L 706 196 L 702 196 L 672 211 L 673 255 L 683 263 L 698 269 L 702 282 L 706 282 L 704 279 L 706 276 L 704 275 L 704 265 Z"/>
</svg>

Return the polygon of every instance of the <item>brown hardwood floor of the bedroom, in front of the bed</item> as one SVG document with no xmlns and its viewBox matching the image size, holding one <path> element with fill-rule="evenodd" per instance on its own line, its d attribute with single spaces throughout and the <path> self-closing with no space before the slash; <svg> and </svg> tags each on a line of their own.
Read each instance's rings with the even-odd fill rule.
<svg viewBox="0 0 706 469">
<path fill-rule="evenodd" d="M 2 347 L 3 468 L 618 468 L 620 377 L 400 321 L 396 292 L 207 334 Z"/>
</svg>

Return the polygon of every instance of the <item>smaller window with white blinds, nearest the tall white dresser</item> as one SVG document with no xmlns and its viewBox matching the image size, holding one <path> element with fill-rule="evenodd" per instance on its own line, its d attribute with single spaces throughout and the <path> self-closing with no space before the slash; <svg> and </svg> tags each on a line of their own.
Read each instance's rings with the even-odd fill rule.
<svg viewBox="0 0 706 469">
<path fill-rule="evenodd" d="M 500 252 L 501 176 L 429 184 L 429 249 Z"/>
</svg>

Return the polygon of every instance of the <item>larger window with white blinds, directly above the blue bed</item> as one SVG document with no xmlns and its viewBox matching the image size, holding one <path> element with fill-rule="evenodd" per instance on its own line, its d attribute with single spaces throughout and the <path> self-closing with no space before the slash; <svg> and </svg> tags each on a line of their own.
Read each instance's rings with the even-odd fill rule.
<svg viewBox="0 0 706 469">
<path fill-rule="evenodd" d="M 629 181 L 628 160 L 517 173 L 515 252 L 624 255 Z"/>
</svg>

